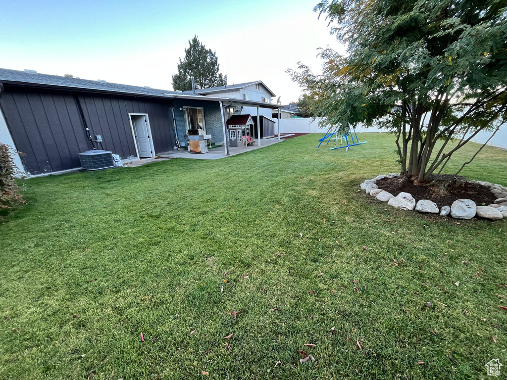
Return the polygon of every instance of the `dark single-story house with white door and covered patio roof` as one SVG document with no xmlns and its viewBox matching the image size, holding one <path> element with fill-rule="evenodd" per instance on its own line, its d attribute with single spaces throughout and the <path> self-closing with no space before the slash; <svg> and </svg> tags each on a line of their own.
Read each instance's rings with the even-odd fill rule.
<svg viewBox="0 0 507 380">
<path fill-rule="evenodd" d="M 0 142 L 24 153 L 15 163 L 31 176 L 80 169 L 79 153 L 86 150 L 141 160 L 186 145 L 189 128 L 201 128 L 212 142 L 223 143 L 225 105 L 279 107 L 0 69 Z"/>
</svg>

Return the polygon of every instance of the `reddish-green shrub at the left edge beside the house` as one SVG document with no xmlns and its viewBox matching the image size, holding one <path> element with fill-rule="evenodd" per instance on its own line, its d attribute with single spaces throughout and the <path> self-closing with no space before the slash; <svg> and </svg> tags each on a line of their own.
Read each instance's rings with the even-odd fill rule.
<svg viewBox="0 0 507 380">
<path fill-rule="evenodd" d="M 12 147 L 0 142 L 0 208 L 25 203 L 15 180 L 15 175 L 21 172 L 14 164 L 12 153 L 16 153 Z"/>
</svg>

